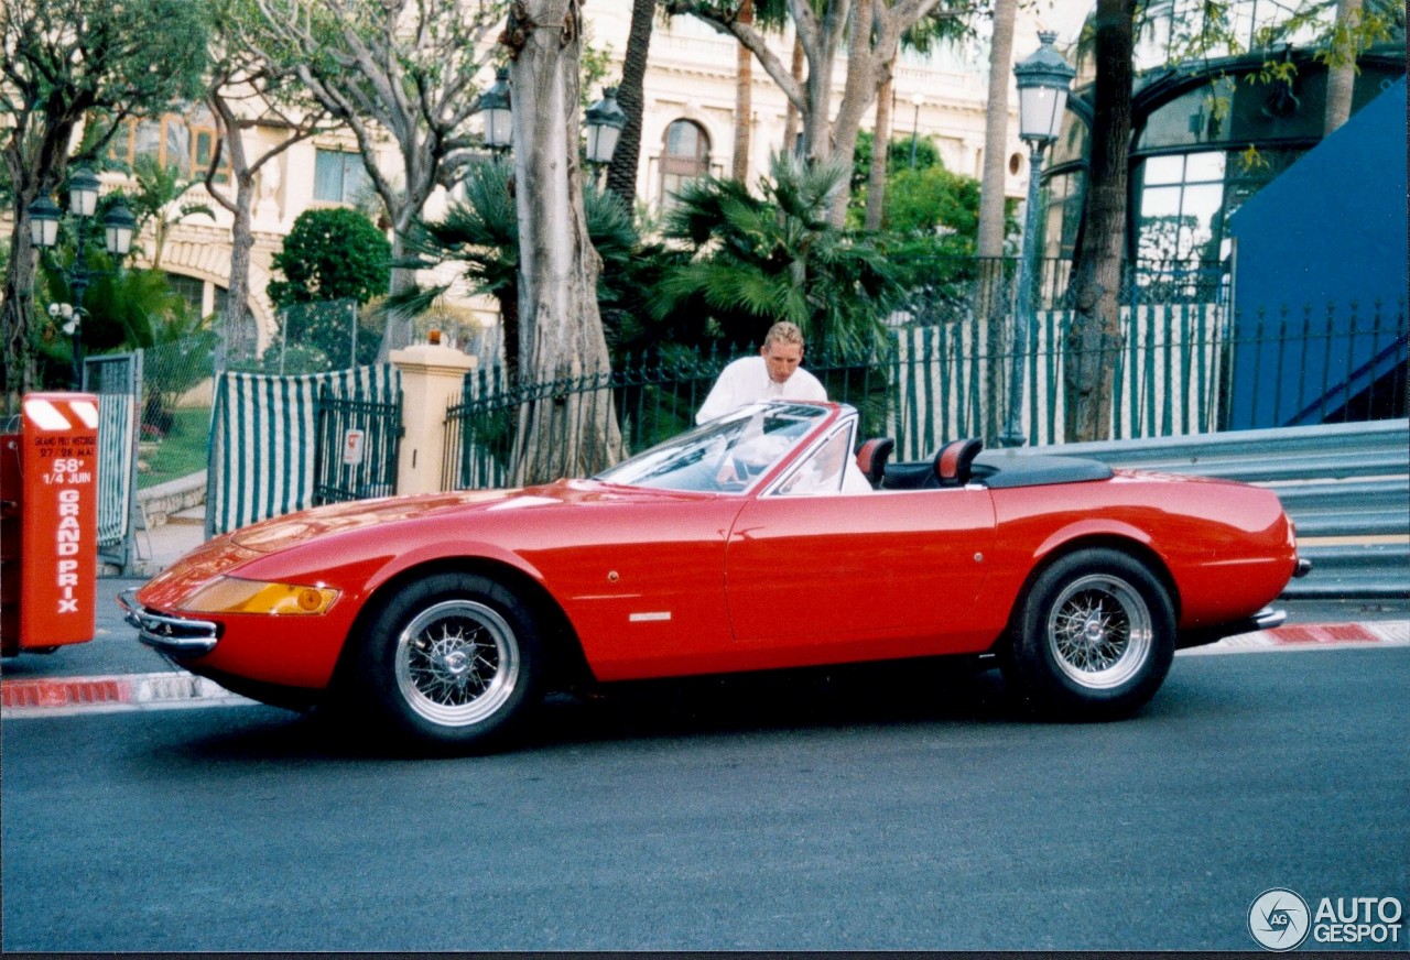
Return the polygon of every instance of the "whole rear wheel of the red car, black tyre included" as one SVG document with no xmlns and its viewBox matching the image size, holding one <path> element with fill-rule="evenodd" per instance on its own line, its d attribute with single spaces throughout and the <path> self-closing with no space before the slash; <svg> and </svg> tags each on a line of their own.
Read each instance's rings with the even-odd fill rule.
<svg viewBox="0 0 1410 960">
<path fill-rule="evenodd" d="M 1175 609 L 1160 581 L 1117 550 L 1081 550 L 1043 570 L 1014 612 L 1005 678 L 1031 710 L 1065 720 L 1127 716 L 1175 658 Z"/>
</svg>

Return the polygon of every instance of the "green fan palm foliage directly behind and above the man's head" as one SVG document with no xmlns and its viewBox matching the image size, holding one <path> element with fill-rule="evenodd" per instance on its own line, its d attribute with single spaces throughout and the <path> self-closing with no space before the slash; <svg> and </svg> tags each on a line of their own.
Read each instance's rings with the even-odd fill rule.
<svg viewBox="0 0 1410 960">
<path fill-rule="evenodd" d="M 689 258 L 663 271 L 654 314 L 692 317 L 697 337 L 728 343 L 759 343 L 778 320 L 797 323 L 821 351 L 877 343 L 901 292 L 898 275 L 883 242 L 829 223 L 842 180 L 838 164 L 780 155 L 760 183 L 763 196 L 736 180 L 688 185 L 664 235 Z"/>
</svg>

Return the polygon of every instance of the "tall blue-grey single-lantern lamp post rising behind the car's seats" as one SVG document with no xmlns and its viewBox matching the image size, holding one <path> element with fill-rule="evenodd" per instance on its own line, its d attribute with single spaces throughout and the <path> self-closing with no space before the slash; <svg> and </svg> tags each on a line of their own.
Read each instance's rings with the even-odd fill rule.
<svg viewBox="0 0 1410 960">
<path fill-rule="evenodd" d="M 1024 436 L 1024 359 L 1028 354 L 1028 327 L 1034 313 L 1035 257 L 1038 254 L 1038 182 L 1043 171 L 1043 151 L 1058 140 L 1067 90 L 1076 70 L 1053 48 L 1058 34 L 1039 32 L 1039 47 L 1014 65 L 1018 82 L 1018 135 L 1029 147 L 1028 202 L 1024 210 L 1024 250 L 1018 261 L 1018 297 L 1014 307 L 1014 355 L 1008 379 L 1008 419 L 1000 443 L 1022 447 Z"/>
</svg>

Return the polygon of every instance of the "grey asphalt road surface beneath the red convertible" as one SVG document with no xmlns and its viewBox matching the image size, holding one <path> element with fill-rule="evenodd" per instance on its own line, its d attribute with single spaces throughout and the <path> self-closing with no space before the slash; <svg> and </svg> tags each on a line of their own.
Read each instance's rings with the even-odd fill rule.
<svg viewBox="0 0 1410 960">
<path fill-rule="evenodd" d="M 1410 901 L 1407 689 L 1407 647 L 1179 657 L 1132 720 L 1041 725 L 871 667 L 560 699 L 457 760 L 11 720 L 3 947 L 1249 950 L 1270 887 Z"/>
</svg>

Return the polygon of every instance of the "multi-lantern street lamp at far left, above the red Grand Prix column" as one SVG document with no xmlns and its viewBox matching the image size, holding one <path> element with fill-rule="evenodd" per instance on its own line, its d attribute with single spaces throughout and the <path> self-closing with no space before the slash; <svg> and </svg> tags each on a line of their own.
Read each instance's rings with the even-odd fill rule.
<svg viewBox="0 0 1410 960">
<path fill-rule="evenodd" d="M 63 269 L 63 279 L 73 303 L 49 304 L 49 316 L 62 320 L 63 333 L 73 338 L 73 389 L 83 386 L 83 296 L 94 272 L 87 265 L 87 220 L 97 213 L 97 176 L 86 168 L 73 171 L 69 176 L 69 213 L 78 217 L 75 230 L 73 265 Z M 59 220 L 62 211 L 48 196 L 39 196 L 28 207 L 30 240 L 42 250 L 52 250 L 59 241 Z M 133 234 L 137 220 L 121 200 L 117 200 L 103 217 L 103 245 L 118 262 L 133 248 Z"/>
</svg>

